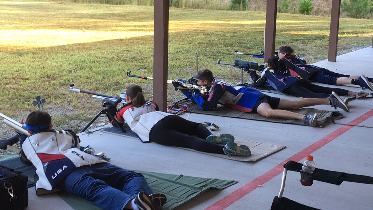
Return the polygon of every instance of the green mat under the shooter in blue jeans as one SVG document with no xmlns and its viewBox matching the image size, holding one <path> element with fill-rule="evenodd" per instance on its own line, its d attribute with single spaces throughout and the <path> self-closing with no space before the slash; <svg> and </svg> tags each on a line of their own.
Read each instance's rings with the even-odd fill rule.
<svg viewBox="0 0 373 210">
<path fill-rule="evenodd" d="M 119 129 L 118 129 L 119 130 Z M 7 159 L 9 155 L 3 155 L 0 158 L 0 164 L 16 168 L 16 170 L 22 171 L 29 177 L 34 177 L 35 168 L 34 166 L 28 166 L 23 164 L 19 160 L 19 156 L 11 156 L 13 158 Z M 4 161 L 1 161 L 4 159 Z M 7 159 L 7 160 L 5 160 Z M 10 162 L 9 162 L 10 161 Z M 5 164 L 6 163 L 6 164 Z M 16 167 L 14 167 L 16 166 Z M 163 210 L 172 210 L 176 207 L 184 204 L 185 202 L 197 197 L 202 192 L 210 188 L 224 189 L 229 186 L 236 184 L 236 181 L 213 179 L 213 178 L 200 178 L 193 176 L 184 175 L 173 175 L 166 173 L 154 173 L 146 171 L 137 171 L 144 175 L 151 189 L 154 192 L 159 192 L 167 195 L 167 203 L 162 207 Z M 31 187 L 31 186 L 28 186 Z M 74 210 L 100 210 L 99 207 L 95 206 L 90 201 L 87 201 L 78 196 L 69 194 L 65 191 L 57 192 L 59 195 L 72 209 Z M 32 198 L 32 197 L 31 197 Z M 48 202 L 48 197 L 45 197 L 45 202 Z M 32 200 L 29 200 L 32 202 Z M 41 203 L 43 205 L 43 203 Z M 61 204 L 60 204 L 61 205 Z M 62 206 L 60 206 L 62 208 Z M 43 209 L 43 208 L 41 208 Z"/>
</svg>

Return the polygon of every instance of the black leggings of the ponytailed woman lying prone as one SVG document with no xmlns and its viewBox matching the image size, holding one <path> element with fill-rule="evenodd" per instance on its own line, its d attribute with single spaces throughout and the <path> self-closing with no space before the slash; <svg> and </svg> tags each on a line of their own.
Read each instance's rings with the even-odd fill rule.
<svg viewBox="0 0 373 210">
<path fill-rule="evenodd" d="M 197 137 L 190 136 L 197 135 Z M 202 124 L 170 115 L 157 122 L 150 131 L 150 140 L 158 144 L 191 148 L 207 153 L 224 154 L 221 144 L 206 141 L 211 132 Z"/>
</svg>

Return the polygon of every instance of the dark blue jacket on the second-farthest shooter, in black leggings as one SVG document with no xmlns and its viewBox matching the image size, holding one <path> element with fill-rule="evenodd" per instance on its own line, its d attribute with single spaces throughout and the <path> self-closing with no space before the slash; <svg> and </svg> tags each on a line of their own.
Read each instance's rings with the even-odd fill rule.
<svg viewBox="0 0 373 210">
<path fill-rule="evenodd" d="M 279 71 L 278 68 L 269 67 L 264 69 L 263 72 L 266 75 L 267 82 L 280 92 L 297 82 L 308 82 L 299 76 L 291 75 L 288 70 L 286 72 L 282 72 Z"/>
</svg>

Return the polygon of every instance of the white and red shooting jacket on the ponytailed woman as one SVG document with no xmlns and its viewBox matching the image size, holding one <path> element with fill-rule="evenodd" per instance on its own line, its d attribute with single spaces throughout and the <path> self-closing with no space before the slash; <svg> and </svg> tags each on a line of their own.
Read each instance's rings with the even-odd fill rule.
<svg viewBox="0 0 373 210">
<path fill-rule="evenodd" d="M 122 107 L 116 113 L 119 122 L 126 122 L 133 132 L 135 132 L 142 142 L 148 142 L 151 129 L 164 117 L 173 115 L 172 113 L 160 112 L 157 104 L 148 101 L 141 107 L 133 107 L 131 104 Z"/>
</svg>

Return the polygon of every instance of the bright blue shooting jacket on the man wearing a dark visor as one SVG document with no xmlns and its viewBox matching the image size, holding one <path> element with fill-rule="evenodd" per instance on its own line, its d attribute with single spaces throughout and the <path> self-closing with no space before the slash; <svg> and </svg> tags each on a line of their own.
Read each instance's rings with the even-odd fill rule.
<svg viewBox="0 0 373 210">
<path fill-rule="evenodd" d="M 213 80 L 213 90 L 209 95 L 182 92 L 186 97 L 195 101 L 202 110 L 213 110 L 217 104 L 231 107 L 241 112 L 251 112 L 257 101 L 264 96 L 259 90 L 251 87 L 242 87 L 236 90 L 231 84 Z"/>
</svg>

